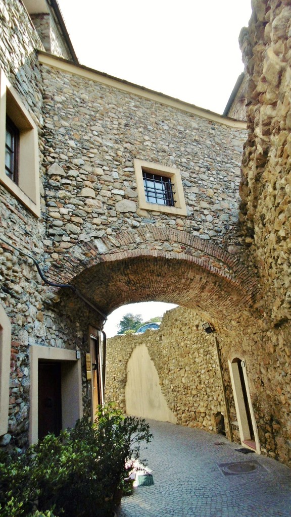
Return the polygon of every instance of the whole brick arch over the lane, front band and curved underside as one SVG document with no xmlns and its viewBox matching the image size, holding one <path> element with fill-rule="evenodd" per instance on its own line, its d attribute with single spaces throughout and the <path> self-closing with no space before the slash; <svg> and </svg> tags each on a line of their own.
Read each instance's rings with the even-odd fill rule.
<svg viewBox="0 0 291 517">
<path fill-rule="evenodd" d="M 238 257 L 186 232 L 148 225 L 106 237 L 102 246 L 102 253 L 89 242 L 70 250 L 59 271 L 106 314 L 156 300 L 238 320 L 256 300 L 256 280 Z"/>
</svg>

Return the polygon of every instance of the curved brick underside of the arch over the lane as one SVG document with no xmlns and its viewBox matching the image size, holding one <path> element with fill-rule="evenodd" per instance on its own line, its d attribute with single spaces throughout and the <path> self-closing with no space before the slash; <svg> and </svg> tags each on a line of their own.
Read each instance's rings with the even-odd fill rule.
<svg viewBox="0 0 291 517">
<path fill-rule="evenodd" d="M 243 268 L 231 275 L 193 256 L 150 251 L 124 255 L 107 255 L 72 282 L 105 314 L 125 303 L 165 301 L 195 309 L 220 325 L 230 316 L 239 320 L 256 299 L 255 282 L 244 279 Z"/>
</svg>

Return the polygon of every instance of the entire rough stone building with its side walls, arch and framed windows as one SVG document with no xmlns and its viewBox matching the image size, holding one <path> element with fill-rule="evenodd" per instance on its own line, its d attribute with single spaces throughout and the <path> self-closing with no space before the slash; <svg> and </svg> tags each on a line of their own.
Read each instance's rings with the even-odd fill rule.
<svg viewBox="0 0 291 517">
<path fill-rule="evenodd" d="M 161 300 L 180 308 L 157 342 L 110 342 L 107 400 L 125 407 L 143 357 L 169 418 L 217 430 L 222 415 L 230 439 L 288 464 L 288 3 L 254 2 L 241 36 L 248 128 L 79 65 L 45 4 L 0 0 L 1 445 L 93 415 L 107 315 Z M 157 177 L 173 203 L 144 190 Z"/>
</svg>

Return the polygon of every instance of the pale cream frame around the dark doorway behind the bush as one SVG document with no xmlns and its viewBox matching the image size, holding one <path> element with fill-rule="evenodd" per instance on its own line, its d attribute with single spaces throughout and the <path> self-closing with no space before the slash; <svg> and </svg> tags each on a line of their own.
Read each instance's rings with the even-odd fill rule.
<svg viewBox="0 0 291 517">
<path fill-rule="evenodd" d="M 30 444 L 36 443 L 38 440 L 39 359 L 62 362 L 62 428 L 74 427 L 78 418 L 83 416 L 81 359 L 76 358 L 76 350 L 32 345 L 30 347 Z"/>
</svg>

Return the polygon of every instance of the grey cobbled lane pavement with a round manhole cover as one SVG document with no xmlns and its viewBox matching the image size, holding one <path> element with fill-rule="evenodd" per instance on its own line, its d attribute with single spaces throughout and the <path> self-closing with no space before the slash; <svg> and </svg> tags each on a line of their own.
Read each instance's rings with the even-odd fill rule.
<svg viewBox="0 0 291 517">
<path fill-rule="evenodd" d="M 144 451 L 154 485 L 123 497 L 118 517 L 290 517 L 291 470 L 255 453 L 242 454 L 221 435 L 149 421 L 154 439 Z M 215 445 L 215 442 L 224 445 Z M 141 454 L 143 457 L 143 454 Z M 243 463 L 232 474 L 222 464 Z"/>
</svg>

